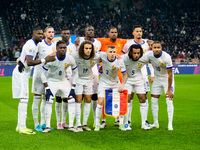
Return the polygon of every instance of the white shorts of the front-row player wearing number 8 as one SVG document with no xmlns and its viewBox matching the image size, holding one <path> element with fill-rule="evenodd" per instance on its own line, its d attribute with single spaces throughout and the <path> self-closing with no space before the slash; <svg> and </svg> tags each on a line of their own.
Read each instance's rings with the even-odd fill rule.
<svg viewBox="0 0 200 150">
<path fill-rule="evenodd" d="M 71 90 L 71 84 L 67 79 L 61 82 L 48 81 L 48 85 L 54 98 L 55 96 L 68 98 Z"/>
</svg>

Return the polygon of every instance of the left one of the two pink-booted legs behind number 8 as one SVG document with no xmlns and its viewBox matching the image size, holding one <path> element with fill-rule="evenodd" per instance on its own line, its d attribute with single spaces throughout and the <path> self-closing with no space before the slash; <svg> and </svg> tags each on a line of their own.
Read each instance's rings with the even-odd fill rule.
<svg viewBox="0 0 200 150">
<path fill-rule="evenodd" d="M 57 120 L 57 129 L 58 130 L 63 129 L 61 122 L 60 122 L 61 103 L 62 103 L 62 98 L 60 97 L 60 95 L 56 96 L 55 111 L 56 111 L 56 120 Z"/>
</svg>

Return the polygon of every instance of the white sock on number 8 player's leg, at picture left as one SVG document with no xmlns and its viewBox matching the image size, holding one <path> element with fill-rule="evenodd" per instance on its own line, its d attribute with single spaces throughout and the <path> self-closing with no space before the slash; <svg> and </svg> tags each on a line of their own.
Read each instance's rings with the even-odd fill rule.
<svg viewBox="0 0 200 150">
<path fill-rule="evenodd" d="M 49 128 L 51 127 L 52 105 L 53 105 L 52 99 L 46 102 L 45 119 L 46 119 L 46 127 L 49 127 Z"/>
</svg>

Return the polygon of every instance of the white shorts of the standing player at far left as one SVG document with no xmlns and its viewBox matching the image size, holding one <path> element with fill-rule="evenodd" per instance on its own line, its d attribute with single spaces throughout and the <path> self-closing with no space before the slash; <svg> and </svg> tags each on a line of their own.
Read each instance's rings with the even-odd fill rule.
<svg viewBox="0 0 200 150">
<path fill-rule="evenodd" d="M 30 74 L 20 73 L 18 66 L 15 67 L 12 73 L 12 94 L 13 98 L 29 98 L 29 77 Z"/>
</svg>

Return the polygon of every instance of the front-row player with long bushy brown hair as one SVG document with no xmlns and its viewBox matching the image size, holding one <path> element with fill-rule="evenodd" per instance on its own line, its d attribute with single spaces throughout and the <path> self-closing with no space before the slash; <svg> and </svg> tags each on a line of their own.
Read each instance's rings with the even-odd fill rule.
<svg viewBox="0 0 200 150">
<path fill-rule="evenodd" d="M 78 53 L 72 54 L 78 66 L 78 80 L 75 88 L 76 93 L 76 125 L 79 131 L 91 129 L 87 126 L 90 114 L 90 102 L 93 94 L 93 66 L 99 62 L 99 56 L 95 53 L 94 45 L 90 41 L 81 43 Z M 83 127 L 81 127 L 82 94 L 84 94 Z"/>
</svg>

